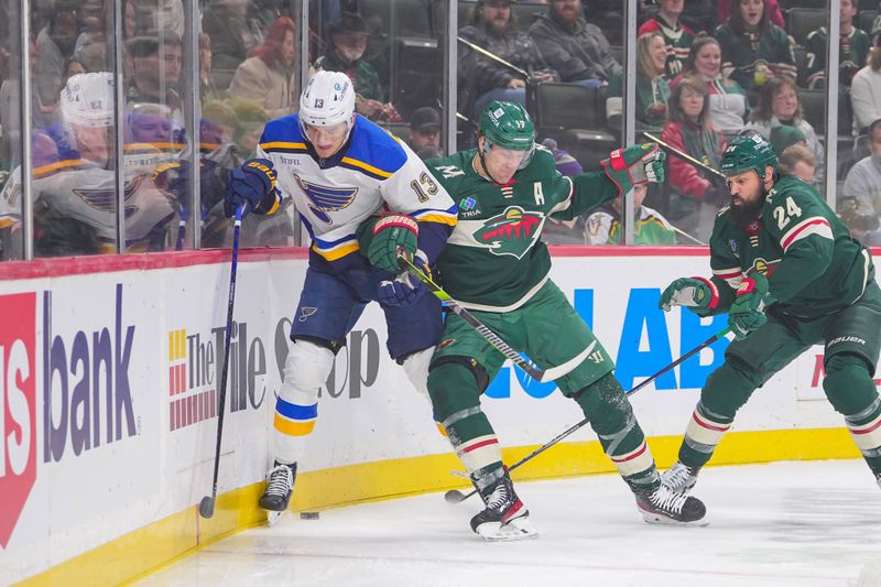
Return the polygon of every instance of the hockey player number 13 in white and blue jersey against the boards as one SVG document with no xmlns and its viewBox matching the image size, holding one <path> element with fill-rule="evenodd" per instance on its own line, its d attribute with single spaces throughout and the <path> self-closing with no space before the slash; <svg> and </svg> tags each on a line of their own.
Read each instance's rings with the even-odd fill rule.
<svg viewBox="0 0 881 587">
<path fill-rule="evenodd" d="M 318 388 L 334 356 L 365 306 L 385 313 L 391 357 L 426 394 L 440 305 L 398 269 L 398 256 L 428 268 L 456 224 L 457 207 L 402 141 L 355 113 L 355 89 L 337 72 L 318 72 L 306 84 L 300 112 L 269 122 L 259 159 L 232 171 L 227 216 L 244 205 L 272 214 L 293 198 L 312 237 L 309 267 L 292 317 L 293 345 L 275 404 L 274 464 L 260 507 L 287 509 L 307 435 L 318 415 Z M 376 222 L 366 220 L 385 213 Z M 373 226 L 368 251 L 358 231 Z"/>
</svg>

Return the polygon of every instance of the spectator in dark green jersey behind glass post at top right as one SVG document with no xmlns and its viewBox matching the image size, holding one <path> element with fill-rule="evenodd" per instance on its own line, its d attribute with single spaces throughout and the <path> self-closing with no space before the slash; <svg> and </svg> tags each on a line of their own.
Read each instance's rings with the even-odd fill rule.
<svg viewBox="0 0 881 587">
<path fill-rule="evenodd" d="M 849 88 L 853 75 L 866 65 L 871 41 L 866 31 L 853 26 L 857 8 L 853 0 L 841 0 L 839 3 L 841 15 L 841 35 L 838 37 L 838 84 Z M 826 26 L 820 26 L 807 35 L 805 42 L 807 50 L 807 87 L 826 87 Z M 844 97 L 845 95 L 841 95 Z"/>
</svg>

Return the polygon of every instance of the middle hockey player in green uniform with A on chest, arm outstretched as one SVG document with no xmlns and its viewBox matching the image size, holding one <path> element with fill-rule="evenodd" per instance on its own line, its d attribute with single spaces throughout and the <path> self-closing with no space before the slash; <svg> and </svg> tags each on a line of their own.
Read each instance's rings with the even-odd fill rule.
<svg viewBox="0 0 881 587">
<path fill-rule="evenodd" d="M 630 402 L 612 374 L 614 363 L 550 280 L 551 256 L 540 239 L 548 216 L 577 218 L 633 185 L 662 182 L 664 155 L 655 146 L 631 146 L 611 153 L 605 173 L 569 178 L 534 141 L 526 111 L 497 101 L 480 117 L 477 149 L 427 162 L 459 205 L 457 228 L 437 260 L 444 289 L 541 368 L 570 369 L 557 385 L 589 417 L 648 522 L 701 523 L 699 500 L 662 486 Z M 480 395 L 503 362 L 498 350 L 450 314 L 428 374 L 434 417 L 486 504 L 471 529 L 487 540 L 536 534 L 480 410 Z"/>
</svg>

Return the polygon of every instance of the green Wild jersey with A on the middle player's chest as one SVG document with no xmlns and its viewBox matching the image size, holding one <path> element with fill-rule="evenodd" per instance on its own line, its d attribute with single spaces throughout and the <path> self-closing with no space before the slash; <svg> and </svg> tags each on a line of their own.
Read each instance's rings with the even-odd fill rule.
<svg viewBox="0 0 881 587">
<path fill-rule="evenodd" d="M 459 206 L 459 221 L 437 258 L 444 289 L 469 309 L 520 307 L 547 281 L 551 254 L 539 238 L 548 216 L 569 220 L 618 197 L 603 172 L 561 175 L 537 148 L 505 185 L 474 169 L 476 149 L 426 162 Z"/>
</svg>

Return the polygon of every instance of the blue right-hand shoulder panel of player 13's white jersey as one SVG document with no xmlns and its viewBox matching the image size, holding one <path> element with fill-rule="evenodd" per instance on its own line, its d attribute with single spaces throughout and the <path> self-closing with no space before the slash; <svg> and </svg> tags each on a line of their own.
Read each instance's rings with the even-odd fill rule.
<svg viewBox="0 0 881 587">
<path fill-rule="evenodd" d="M 416 155 L 396 137 L 361 115 L 355 116 L 351 142 L 342 159 L 344 164 L 355 165 L 377 178 L 391 177 Z"/>
</svg>

